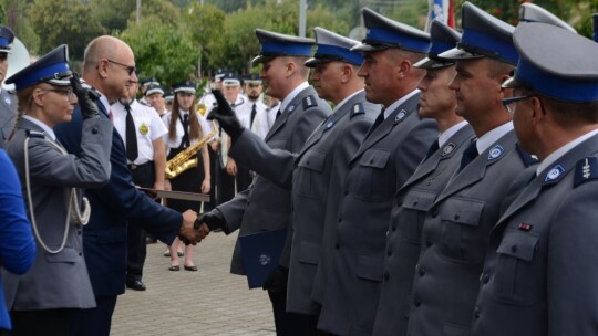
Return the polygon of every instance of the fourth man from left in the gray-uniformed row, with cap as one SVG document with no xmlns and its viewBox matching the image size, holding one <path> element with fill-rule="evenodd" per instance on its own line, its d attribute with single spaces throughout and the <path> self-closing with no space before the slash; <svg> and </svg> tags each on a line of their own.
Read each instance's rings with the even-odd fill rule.
<svg viewBox="0 0 598 336">
<path fill-rule="evenodd" d="M 432 45 L 427 57 L 414 64 L 426 70 L 419 85 L 422 91 L 419 113 L 422 117 L 434 118 L 441 134 L 424 161 L 395 196 L 374 335 L 406 334 L 409 292 L 420 256 L 425 212 L 458 168 L 463 150 L 474 138 L 472 127 L 455 114 L 455 94 L 448 88 L 448 82 L 455 76 L 454 62 L 437 56 L 452 49 L 461 40 L 461 34 L 440 21 L 433 21 L 430 35 Z"/>
</svg>

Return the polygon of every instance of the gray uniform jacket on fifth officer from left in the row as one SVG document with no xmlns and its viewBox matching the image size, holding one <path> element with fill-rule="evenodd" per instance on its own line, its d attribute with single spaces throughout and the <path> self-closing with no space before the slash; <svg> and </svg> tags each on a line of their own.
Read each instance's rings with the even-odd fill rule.
<svg viewBox="0 0 598 336">
<path fill-rule="evenodd" d="M 427 212 L 408 335 L 470 335 L 491 228 L 529 162 L 511 130 L 453 177 Z"/>
</svg>

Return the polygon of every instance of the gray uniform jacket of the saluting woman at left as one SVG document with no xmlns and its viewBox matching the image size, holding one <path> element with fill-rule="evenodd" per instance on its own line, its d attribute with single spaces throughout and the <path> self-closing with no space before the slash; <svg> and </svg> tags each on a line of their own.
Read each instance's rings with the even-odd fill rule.
<svg viewBox="0 0 598 336">
<path fill-rule="evenodd" d="M 14 138 L 8 144 L 7 151 L 27 197 L 23 145 L 30 138 L 29 172 L 37 228 L 52 250 L 62 243 L 71 188 L 97 188 L 110 179 L 112 123 L 104 118 L 87 119 L 82 132 L 80 157 L 59 151 L 41 127 L 24 118 L 19 120 Z M 29 203 L 25 204 L 29 208 Z M 68 230 L 66 244 L 61 252 L 48 253 L 35 238 L 37 255 L 31 270 L 24 275 L 2 272 L 7 305 L 11 309 L 95 307 L 83 256 L 83 228 L 71 220 Z"/>
</svg>

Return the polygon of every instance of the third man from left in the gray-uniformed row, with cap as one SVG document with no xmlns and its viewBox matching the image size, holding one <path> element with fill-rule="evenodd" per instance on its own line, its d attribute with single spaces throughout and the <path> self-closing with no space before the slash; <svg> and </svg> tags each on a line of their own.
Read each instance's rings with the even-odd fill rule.
<svg viewBox="0 0 598 336">
<path fill-rule="evenodd" d="M 336 216 L 330 262 L 320 265 L 326 284 L 316 284 L 322 303 L 318 328 L 338 335 L 369 335 L 382 285 L 384 246 L 396 190 L 411 177 L 437 137 L 436 123 L 417 114 L 413 67 L 430 46 L 430 35 L 364 8 L 368 35 L 353 50 L 363 52 L 359 76 L 369 102 L 382 104 L 355 156 Z M 328 250 L 330 249 L 330 250 Z"/>
</svg>

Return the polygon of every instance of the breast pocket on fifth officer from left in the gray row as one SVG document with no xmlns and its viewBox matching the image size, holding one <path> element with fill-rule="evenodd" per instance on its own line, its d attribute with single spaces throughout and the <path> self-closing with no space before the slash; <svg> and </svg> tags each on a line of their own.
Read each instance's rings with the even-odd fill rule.
<svg viewBox="0 0 598 336">
<path fill-rule="evenodd" d="M 482 263 L 489 228 L 480 227 L 485 202 L 452 198 L 440 211 L 442 255 L 458 262 Z"/>
</svg>

